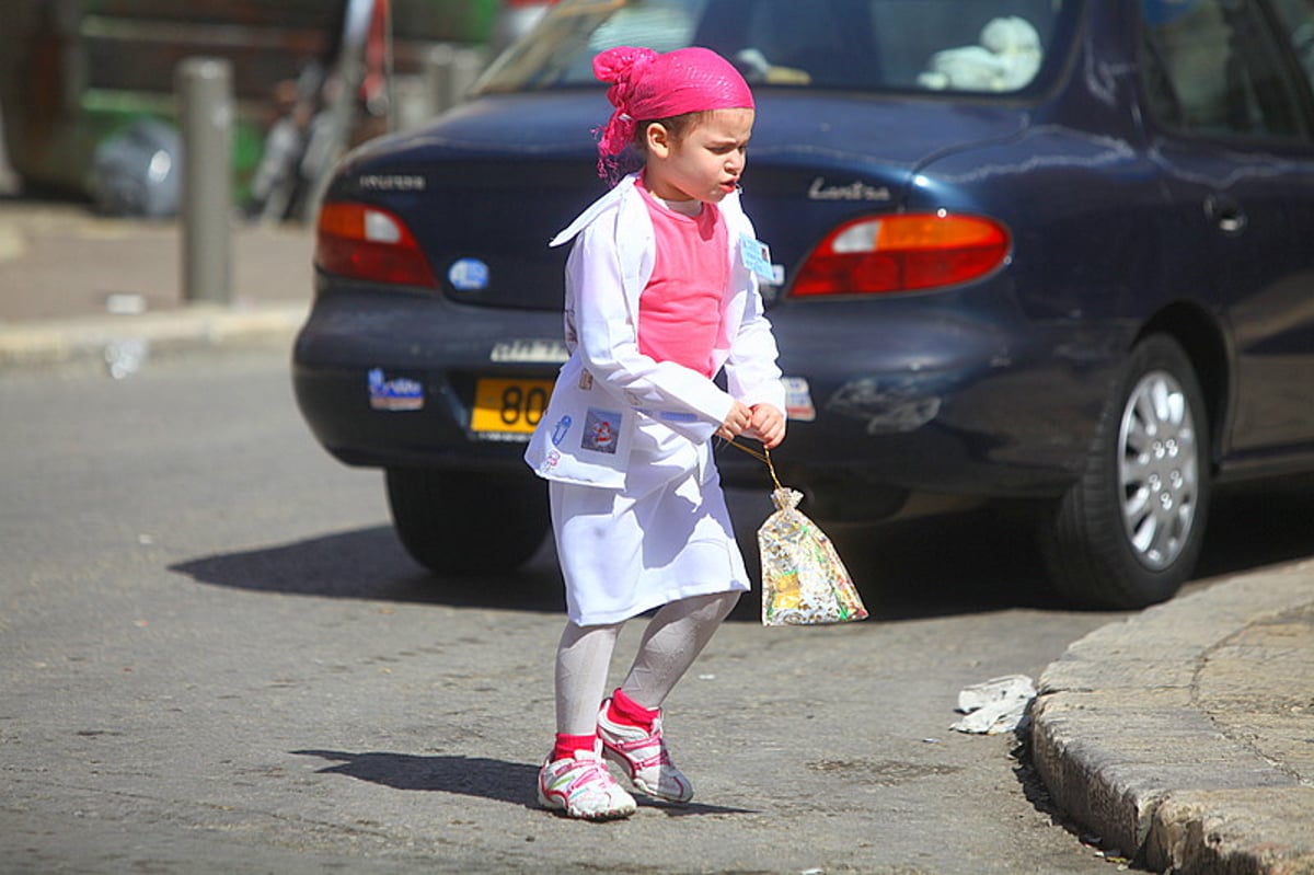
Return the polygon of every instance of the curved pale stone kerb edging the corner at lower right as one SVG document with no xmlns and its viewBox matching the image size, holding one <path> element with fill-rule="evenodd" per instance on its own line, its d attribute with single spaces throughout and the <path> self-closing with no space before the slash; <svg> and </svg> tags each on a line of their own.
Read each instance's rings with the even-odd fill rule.
<svg viewBox="0 0 1314 875">
<path fill-rule="evenodd" d="M 1303 562 L 1219 583 L 1072 644 L 1031 712 L 1034 763 L 1058 807 L 1152 871 L 1314 872 L 1314 787 L 1200 698 L 1230 639 L 1314 602 L 1311 573 Z M 1263 691 L 1261 661 L 1244 665 L 1252 677 L 1236 682 Z"/>
</svg>

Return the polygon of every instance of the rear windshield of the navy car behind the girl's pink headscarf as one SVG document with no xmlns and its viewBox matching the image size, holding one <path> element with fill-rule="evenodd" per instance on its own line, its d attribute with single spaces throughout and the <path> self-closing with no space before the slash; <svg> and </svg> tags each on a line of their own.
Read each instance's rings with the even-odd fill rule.
<svg viewBox="0 0 1314 875">
<path fill-rule="evenodd" d="M 612 46 L 707 46 L 754 84 L 1016 93 L 1034 87 L 1079 0 L 562 0 L 482 93 L 597 85 Z"/>
</svg>

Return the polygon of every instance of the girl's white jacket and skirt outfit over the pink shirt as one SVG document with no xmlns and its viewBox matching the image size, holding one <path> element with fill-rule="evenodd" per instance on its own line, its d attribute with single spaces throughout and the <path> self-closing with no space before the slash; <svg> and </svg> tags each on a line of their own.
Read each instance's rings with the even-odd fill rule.
<svg viewBox="0 0 1314 875">
<path fill-rule="evenodd" d="M 728 210 L 728 212 L 727 212 Z M 757 282 L 737 248 L 752 225 L 737 196 L 729 219 L 732 280 L 716 351 L 735 398 L 784 409 L 777 349 Z M 637 351 L 639 296 L 653 264 L 648 208 L 625 180 L 553 244 L 581 236 L 566 268 L 562 367 L 526 461 L 549 481 L 552 527 L 577 625 L 620 623 L 677 599 L 749 589 L 712 457 L 711 435 L 731 394 Z M 603 452 L 581 428 L 619 423 Z"/>
</svg>

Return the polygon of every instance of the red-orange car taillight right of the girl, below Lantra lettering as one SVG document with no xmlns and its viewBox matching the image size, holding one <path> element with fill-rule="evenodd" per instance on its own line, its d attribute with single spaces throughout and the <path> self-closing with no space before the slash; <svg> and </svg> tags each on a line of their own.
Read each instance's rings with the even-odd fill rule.
<svg viewBox="0 0 1314 875">
<path fill-rule="evenodd" d="M 967 282 L 1009 255 L 1008 229 L 980 215 L 912 213 L 867 215 L 821 240 L 791 294 L 911 292 Z"/>
</svg>

